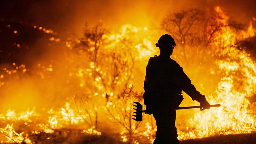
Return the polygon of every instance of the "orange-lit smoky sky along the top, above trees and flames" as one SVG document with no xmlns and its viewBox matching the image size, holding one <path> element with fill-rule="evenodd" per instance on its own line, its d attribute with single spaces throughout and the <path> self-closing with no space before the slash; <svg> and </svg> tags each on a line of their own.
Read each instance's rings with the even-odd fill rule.
<svg viewBox="0 0 256 144">
<path fill-rule="evenodd" d="M 255 0 L 44 0 L 6 1 L 1 7 L 1 17 L 22 20 L 32 25 L 51 28 L 64 36 L 81 35 L 85 22 L 102 21 L 111 30 L 122 24 L 158 26 L 168 11 L 191 7 L 213 10 L 213 6 L 226 9 L 231 17 L 248 24 L 256 17 Z"/>
</svg>

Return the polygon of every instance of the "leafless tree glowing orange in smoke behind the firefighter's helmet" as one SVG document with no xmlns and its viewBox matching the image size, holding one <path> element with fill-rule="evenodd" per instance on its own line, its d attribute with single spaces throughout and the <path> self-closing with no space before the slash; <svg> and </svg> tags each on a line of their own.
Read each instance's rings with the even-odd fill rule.
<svg viewBox="0 0 256 144">
<path fill-rule="evenodd" d="M 236 21 L 225 23 L 224 18 L 218 13 L 209 14 L 198 9 L 182 10 L 168 13 L 161 22 L 161 29 L 173 35 L 178 43 L 178 55 L 174 57 L 200 65 L 201 61 L 211 57 L 213 47 L 210 44 L 219 41 L 216 36 L 218 31 L 224 27 L 241 30 L 241 24 Z"/>
</svg>

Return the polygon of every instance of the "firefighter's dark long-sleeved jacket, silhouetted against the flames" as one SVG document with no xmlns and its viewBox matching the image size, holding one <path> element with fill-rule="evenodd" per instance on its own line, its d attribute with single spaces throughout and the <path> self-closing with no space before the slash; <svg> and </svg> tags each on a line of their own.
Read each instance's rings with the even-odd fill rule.
<svg viewBox="0 0 256 144">
<path fill-rule="evenodd" d="M 192 100 L 201 102 L 205 97 L 191 84 L 182 67 L 170 57 L 154 56 L 148 60 L 143 94 L 144 104 L 153 111 L 174 109 L 179 94 L 186 92 Z M 178 104 L 177 104 L 178 103 Z"/>
</svg>

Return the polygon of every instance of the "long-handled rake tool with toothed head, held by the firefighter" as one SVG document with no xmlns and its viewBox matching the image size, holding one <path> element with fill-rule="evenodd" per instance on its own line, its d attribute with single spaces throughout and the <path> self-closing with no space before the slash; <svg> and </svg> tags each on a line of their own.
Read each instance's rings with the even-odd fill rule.
<svg viewBox="0 0 256 144">
<path fill-rule="evenodd" d="M 142 121 L 142 113 L 145 113 L 146 110 L 142 110 L 142 105 L 139 102 L 134 102 L 137 105 L 133 105 L 136 108 L 133 108 L 135 111 L 133 111 L 133 113 L 135 113 L 136 115 L 132 115 L 135 116 L 134 119 L 135 121 L 139 122 Z M 210 105 L 210 107 L 220 107 L 220 104 L 216 104 L 216 105 Z M 195 109 L 195 108 L 200 108 L 200 106 L 191 106 L 191 107 L 178 107 L 176 109 Z"/>
</svg>

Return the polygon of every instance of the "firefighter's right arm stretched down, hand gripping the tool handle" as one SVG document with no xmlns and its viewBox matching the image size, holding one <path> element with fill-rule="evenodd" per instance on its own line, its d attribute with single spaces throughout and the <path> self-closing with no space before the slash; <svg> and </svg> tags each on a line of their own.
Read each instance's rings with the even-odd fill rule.
<svg viewBox="0 0 256 144">
<path fill-rule="evenodd" d="M 191 80 L 188 78 L 188 76 L 185 74 L 185 72 L 180 68 L 179 70 L 179 85 L 182 88 L 184 92 L 186 92 L 192 100 L 196 100 L 200 103 L 200 110 L 204 109 L 210 109 L 210 104 L 206 100 L 205 96 L 200 94 L 200 92 L 197 91 L 195 86 L 191 83 Z"/>
</svg>

